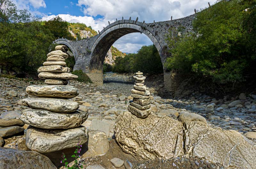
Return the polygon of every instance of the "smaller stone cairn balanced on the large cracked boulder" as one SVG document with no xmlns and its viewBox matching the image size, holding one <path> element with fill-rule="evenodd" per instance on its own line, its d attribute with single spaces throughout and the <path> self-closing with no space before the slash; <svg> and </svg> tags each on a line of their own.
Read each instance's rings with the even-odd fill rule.
<svg viewBox="0 0 256 169">
<path fill-rule="evenodd" d="M 146 118 L 151 113 L 150 92 L 144 86 L 146 77 L 143 76 L 142 72 L 138 71 L 133 78 L 135 79 L 134 89 L 131 90 L 133 101 L 128 106 L 128 110 L 139 118 Z"/>
</svg>

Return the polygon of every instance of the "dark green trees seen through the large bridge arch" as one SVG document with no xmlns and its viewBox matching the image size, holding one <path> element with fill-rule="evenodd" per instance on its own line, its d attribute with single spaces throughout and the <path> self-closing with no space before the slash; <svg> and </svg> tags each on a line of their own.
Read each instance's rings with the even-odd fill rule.
<svg viewBox="0 0 256 169">
<path fill-rule="evenodd" d="M 162 62 L 154 45 L 142 46 L 136 54 L 127 54 L 124 57 L 116 57 L 114 72 L 161 73 Z"/>
</svg>

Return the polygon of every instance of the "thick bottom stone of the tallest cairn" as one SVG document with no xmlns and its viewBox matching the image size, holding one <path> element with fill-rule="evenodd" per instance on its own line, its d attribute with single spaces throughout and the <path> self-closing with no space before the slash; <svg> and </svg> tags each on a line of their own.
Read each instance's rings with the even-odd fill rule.
<svg viewBox="0 0 256 169">
<path fill-rule="evenodd" d="M 46 130 L 29 126 L 26 132 L 27 147 L 39 153 L 76 147 L 78 139 L 81 144 L 87 142 L 88 130 L 85 127 Z"/>
</svg>

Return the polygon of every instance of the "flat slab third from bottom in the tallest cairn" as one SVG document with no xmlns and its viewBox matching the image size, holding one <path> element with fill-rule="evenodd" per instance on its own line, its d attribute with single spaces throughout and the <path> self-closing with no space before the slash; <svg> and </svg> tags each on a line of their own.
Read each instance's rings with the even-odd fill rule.
<svg viewBox="0 0 256 169">
<path fill-rule="evenodd" d="M 44 109 L 56 113 L 71 113 L 78 109 L 78 103 L 68 99 L 25 98 L 22 104 L 34 109 Z"/>
</svg>

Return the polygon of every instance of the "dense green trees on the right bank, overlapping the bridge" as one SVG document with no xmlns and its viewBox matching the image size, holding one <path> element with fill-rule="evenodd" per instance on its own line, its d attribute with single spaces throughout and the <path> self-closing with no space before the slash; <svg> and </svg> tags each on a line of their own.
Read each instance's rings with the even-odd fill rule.
<svg viewBox="0 0 256 169">
<path fill-rule="evenodd" d="M 197 13 L 194 33 L 170 30 L 172 57 L 169 70 L 212 77 L 216 82 L 240 82 L 255 74 L 256 1 L 232 0 L 218 3 Z M 181 35 L 180 35 L 181 34 Z"/>
</svg>

